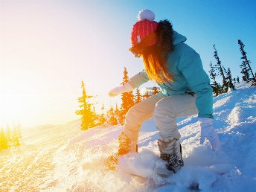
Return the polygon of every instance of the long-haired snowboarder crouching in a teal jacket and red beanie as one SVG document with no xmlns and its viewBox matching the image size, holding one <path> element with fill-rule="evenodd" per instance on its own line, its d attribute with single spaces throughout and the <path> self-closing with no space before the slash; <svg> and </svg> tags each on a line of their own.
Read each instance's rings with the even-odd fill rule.
<svg viewBox="0 0 256 192">
<path fill-rule="evenodd" d="M 124 86 L 109 92 L 116 96 L 155 80 L 161 92 L 132 106 L 126 114 L 124 130 L 118 138 L 118 152 L 109 157 L 117 163 L 118 157 L 138 152 L 138 132 L 141 124 L 153 117 L 159 130 L 161 161 L 167 170 L 176 173 L 182 166 L 181 135 L 176 118 L 198 114 L 201 127 L 200 144 L 205 138 L 214 151 L 220 149 L 220 139 L 213 127 L 213 95 L 208 74 L 202 68 L 199 54 L 186 45 L 186 37 L 173 31 L 168 20 L 154 21 L 151 10 L 141 10 L 138 22 L 132 27 L 129 51 L 142 57 L 144 71 L 135 74 Z"/>
</svg>

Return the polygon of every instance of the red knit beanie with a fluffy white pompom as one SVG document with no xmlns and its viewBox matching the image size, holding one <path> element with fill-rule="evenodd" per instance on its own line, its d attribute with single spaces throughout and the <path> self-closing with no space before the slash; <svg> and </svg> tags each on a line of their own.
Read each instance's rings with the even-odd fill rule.
<svg viewBox="0 0 256 192">
<path fill-rule="evenodd" d="M 144 9 L 139 11 L 137 18 L 138 22 L 136 22 L 132 27 L 132 47 L 140 43 L 150 34 L 154 33 L 159 25 L 158 22 L 154 21 L 155 14 L 151 10 Z M 157 39 L 153 39 L 152 41 L 147 43 L 147 46 L 155 45 L 156 43 Z"/>
</svg>

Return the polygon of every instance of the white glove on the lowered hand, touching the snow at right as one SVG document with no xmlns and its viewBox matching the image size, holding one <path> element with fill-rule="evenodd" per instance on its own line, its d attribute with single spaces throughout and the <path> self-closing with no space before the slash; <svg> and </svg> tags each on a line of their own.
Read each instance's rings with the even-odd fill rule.
<svg viewBox="0 0 256 192">
<path fill-rule="evenodd" d="M 203 144 L 205 138 L 210 141 L 211 147 L 214 151 L 220 150 L 220 138 L 213 126 L 212 118 L 198 118 L 201 126 L 200 144 Z"/>
</svg>

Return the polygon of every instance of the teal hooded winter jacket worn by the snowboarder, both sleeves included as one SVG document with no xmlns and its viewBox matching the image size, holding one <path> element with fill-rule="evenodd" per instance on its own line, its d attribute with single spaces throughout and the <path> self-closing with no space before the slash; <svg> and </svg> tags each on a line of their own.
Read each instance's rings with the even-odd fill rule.
<svg viewBox="0 0 256 192">
<path fill-rule="evenodd" d="M 199 54 L 186 45 L 185 36 L 174 31 L 174 50 L 168 54 L 167 72 L 172 74 L 175 81 L 159 83 L 164 95 L 185 95 L 193 92 L 196 95 L 196 107 L 199 118 L 213 118 L 213 95 L 208 74 L 202 67 Z M 141 86 L 149 81 L 145 71 L 135 74 L 129 80 L 132 88 Z"/>
</svg>

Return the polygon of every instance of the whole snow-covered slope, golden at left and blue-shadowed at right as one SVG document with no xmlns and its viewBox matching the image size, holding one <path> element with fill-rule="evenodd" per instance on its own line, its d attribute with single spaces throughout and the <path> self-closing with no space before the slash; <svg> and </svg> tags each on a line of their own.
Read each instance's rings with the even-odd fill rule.
<svg viewBox="0 0 256 192">
<path fill-rule="evenodd" d="M 256 87 L 214 98 L 219 152 L 199 144 L 196 115 L 177 119 L 185 167 L 157 176 L 158 132 L 153 120 L 142 124 L 139 153 L 123 156 L 116 171 L 103 164 L 118 149 L 120 125 L 80 131 L 80 122 L 24 132 L 21 147 L 0 152 L 0 191 L 255 191 Z M 133 174 L 133 175 L 132 175 Z M 135 176 L 137 175 L 137 176 Z"/>
</svg>

